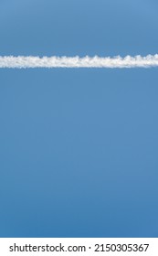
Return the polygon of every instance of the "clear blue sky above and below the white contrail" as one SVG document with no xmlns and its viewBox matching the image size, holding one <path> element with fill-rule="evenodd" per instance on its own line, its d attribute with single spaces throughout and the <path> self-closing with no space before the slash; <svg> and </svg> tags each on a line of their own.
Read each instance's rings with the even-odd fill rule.
<svg viewBox="0 0 158 256">
<path fill-rule="evenodd" d="M 0 55 L 158 52 L 157 1 L 0 1 Z M 158 69 L 0 69 L 0 236 L 158 237 Z"/>
</svg>

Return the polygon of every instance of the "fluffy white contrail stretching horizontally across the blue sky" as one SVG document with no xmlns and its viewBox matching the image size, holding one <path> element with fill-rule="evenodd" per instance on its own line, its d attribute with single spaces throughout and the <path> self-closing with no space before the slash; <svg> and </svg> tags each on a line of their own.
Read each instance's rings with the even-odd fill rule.
<svg viewBox="0 0 158 256">
<path fill-rule="evenodd" d="M 0 56 L 0 68 L 150 68 L 158 67 L 158 54 L 142 57 L 34 57 L 34 56 Z"/>
</svg>

